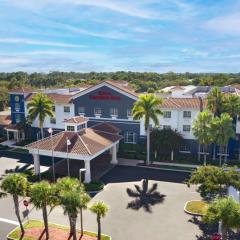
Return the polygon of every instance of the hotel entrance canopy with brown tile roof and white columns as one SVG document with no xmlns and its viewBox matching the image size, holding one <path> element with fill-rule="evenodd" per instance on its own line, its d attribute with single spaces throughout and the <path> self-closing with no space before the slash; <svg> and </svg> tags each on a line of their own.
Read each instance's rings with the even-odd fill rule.
<svg viewBox="0 0 240 240">
<path fill-rule="evenodd" d="M 35 174 L 40 173 L 39 155 L 83 160 L 86 168 L 85 181 L 91 181 L 90 161 L 107 150 L 112 154 L 111 163 L 117 163 L 117 144 L 122 139 L 115 126 L 103 122 L 80 131 L 62 131 L 52 137 L 26 146 L 34 159 Z M 67 146 L 67 141 L 70 144 Z"/>
</svg>

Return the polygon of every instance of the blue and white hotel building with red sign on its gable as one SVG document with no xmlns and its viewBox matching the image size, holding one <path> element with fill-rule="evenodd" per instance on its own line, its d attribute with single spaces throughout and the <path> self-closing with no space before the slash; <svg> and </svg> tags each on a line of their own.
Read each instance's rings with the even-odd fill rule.
<svg viewBox="0 0 240 240">
<path fill-rule="evenodd" d="M 181 87 L 171 89 L 171 95 L 163 97 L 161 110 L 163 115 L 159 117 L 160 128 L 171 128 L 179 132 L 185 139 L 185 143 L 179 149 L 182 153 L 196 154 L 198 143 L 192 132 L 192 124 L 198 113 L 205 108 L 204 97 L 187 94 Z M 184 92 L 184 94 L 181 93 Z M 7 131 L 14 131 L 14 125 L 24 121 L 28 116 L 27 103 L 39 91 L 30 89 L 15 89 L 10 92 L 11 127 Z M 131 110 L 138 94 L 129 89 L 126 83 L 104 81 L 86 89 L 55 89 L 43 90 L 53 102 L 53 118 L 46 118 L 44 129 L 54 132 L 63 130 L 71 131 L 74 126 L 64 123 L 65 119 L 81 116 L 88 119 L 88 127 L 107 122 L 120 129 L 123 137 L 121 142 L 128 144 L 141 144 L 145 138 L 143 120 L 134 120 Z M 193 90 L 191 89 L 191 93 Z M 74 125 L 74 124 L 73 124 Z M 33 129 L 38 128 L 38 120 L 32 123 Z M 152 124 L 152 127 L 154 125 Z M 237 121 L 236 133 L 240 133 L 240 124 Z M 16 134 L 9 135 L 16 139 Z M 18 139 L 21 139 L 21 136 Z M 238 148 L 238 142 L 229 144 L 229 153 Z"/>
</svg>

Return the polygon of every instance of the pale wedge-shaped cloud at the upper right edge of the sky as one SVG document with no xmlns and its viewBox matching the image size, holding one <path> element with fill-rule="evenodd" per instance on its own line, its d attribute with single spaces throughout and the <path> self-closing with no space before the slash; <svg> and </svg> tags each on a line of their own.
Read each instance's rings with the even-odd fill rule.
<svg viewBox="0 0 240 240">
<path fill-rule="evenodd" d="M 240 13 L 233 13 L 210 19 L 204 27 L 215 32 L 240 35 Z"/>
</svg>

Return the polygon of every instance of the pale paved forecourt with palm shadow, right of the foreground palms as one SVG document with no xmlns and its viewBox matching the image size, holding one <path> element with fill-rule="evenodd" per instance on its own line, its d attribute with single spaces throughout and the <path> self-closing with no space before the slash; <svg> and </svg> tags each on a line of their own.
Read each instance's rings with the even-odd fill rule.
<svg viewBox="0 0 240 240">
<path fill-rule="evenodd" d="M 182 183 L 188 176 L 139 167 L 115 167 L 102 178 L 108 183 L 104 191 L 92 200 L 102 200 L 109 205 L 103 219 L 103 232 L 113 240 L 202 239 L 197 219 L 192 223 L 193 218 L 183 211 L 187 201 L 200 199 L 194 187 L 188 188 Z M 149 179 L 148 186 L 142 185 L 144 178 Z M 156 190 L 151 192 L 154 184 L 157 184 Z M 134 185 L 139 186 L 139 192 Z M 95 216 L 86 212 L 85 219 L 86 229 L 96 229 Z"/>
</svg>

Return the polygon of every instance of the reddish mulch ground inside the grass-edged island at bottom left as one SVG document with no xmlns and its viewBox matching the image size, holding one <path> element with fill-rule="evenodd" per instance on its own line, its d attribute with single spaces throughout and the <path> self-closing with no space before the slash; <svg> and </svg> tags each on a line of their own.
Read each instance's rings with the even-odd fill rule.
<svg viewBox="0 0 240 240">
<path fill-rule="evenodd" d="M 79 240 L 96 240 L 97 237 L 92 237 L 88 235 L 83 235 L 80 238 L 81 234 L 77 235 Z M 42 227 L 33 227 L 25 229 L 24 237 L 28 237 L 32 240 L 46 240 L 44 228 Z M 49 227 L 49 239 L 48 240 L 70 240 L 69 232 L 67 230 L 57 228 L 57 227 Z"/>
</svg>

